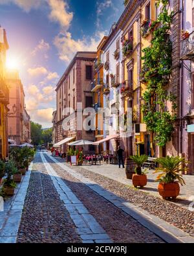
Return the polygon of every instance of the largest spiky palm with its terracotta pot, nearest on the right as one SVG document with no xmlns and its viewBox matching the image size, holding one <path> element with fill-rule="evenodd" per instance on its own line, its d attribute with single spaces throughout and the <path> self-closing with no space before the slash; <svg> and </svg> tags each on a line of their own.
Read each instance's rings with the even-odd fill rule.
<svg viewBox="0 0 194 256">
<path fill-rule="evenodd" d="M 187 167 L 182 168 L 182 163 L 186 163 L 184 158 L 178 156 L 160 157 L 156 160 L 161 167 L 156 168 L 155 172 L 161 172 L 156 178 L 159 181 L 158 192 L 163 199 L 176 199 L 180 192 L 180 185 L 184 185 L 185 181 L 180 172 L 188 170 Z"/>
</svg>

